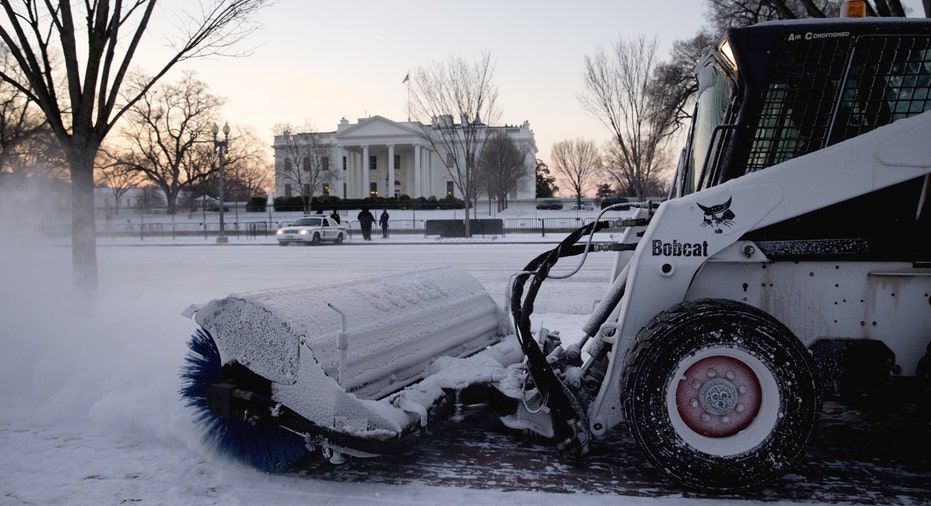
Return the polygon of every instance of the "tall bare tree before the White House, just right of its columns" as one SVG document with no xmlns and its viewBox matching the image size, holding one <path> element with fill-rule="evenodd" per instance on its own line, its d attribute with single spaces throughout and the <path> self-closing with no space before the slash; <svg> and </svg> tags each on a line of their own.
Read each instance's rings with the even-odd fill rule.
<svg viewBox="0 0 931 506">
<path fill-rule="evenodd" d="M 462 194 L 466 237 L 472 235 L 469 210 L 476 195 L 476 169 L 487 140 L 487 125 L 494 125 L 499 116 L 494 70 L 489 53 L 482 53 L 475 62 L 449 57 L 416 69 L 408 84 L 411 116 L 424 125 L 424 136 L 433 150 L 446 156 L 446 170 Z"/>
</svg>

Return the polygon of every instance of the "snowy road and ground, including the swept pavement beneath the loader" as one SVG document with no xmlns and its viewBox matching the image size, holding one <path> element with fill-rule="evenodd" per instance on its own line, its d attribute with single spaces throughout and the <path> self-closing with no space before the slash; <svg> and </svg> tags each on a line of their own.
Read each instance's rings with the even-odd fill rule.
<svg viewBox="0 0 931 506">
<path fill-rule="evenodd" d="M 188 304 L 437 264 L 471 272 L 502 300 L 508 276 L 550 246 L 526 239 L 306 248 L 268 239 L 101 240 L 95 305 L 71 297 L 68 247 L 4 241 L 0 504 L 719 504 L 657 476 L 623 431 L 587 463 L 573 463 L 473 422 L 402 457 L 337 470 L 308 463 L 286 475 L 259 473 L 200 442 L 177 393 L 194 329 L 180 315 Z M 605 290 L 612 259 L 594 255 L 577 276 L 544 285 L 535 326 L 571 339 Z M 853 420 L 864 418 L 872 425 L 857 428 Z M 797 473 L 727 501 L 931 502 L 927 424 L 843 409 L 825 420 Z"/>
</svg>

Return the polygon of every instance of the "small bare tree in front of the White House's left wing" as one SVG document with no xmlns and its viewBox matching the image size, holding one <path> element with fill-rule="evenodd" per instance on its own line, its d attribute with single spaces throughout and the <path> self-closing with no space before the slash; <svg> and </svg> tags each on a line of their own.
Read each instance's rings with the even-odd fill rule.
<svg viewBox="0 0 931 506">
<path fill-rule="evenodd" d="M 323 171 L 330 170 L 331 146 L 325 136 L 312 126 L 308 125 L 303 130 L 296 133 L 294 127 L 288 124 L 275 127 L 283 164 L 276 171 L 280 171 L 282 181 L 297 187 L 304 213 L 309 213 L 314 196 L 322 189 Z"/>
</svg>

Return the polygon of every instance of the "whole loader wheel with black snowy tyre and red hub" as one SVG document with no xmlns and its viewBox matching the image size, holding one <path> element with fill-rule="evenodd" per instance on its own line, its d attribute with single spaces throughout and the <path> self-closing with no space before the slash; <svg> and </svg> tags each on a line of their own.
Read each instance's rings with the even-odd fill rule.
<svg viewBox="0 0 931 506">
<path fill-rule="evenodd" d="M 752 488 L 802 457 L 820 413 L 808 351 L 772 316 L 729 300 L 684 302 L 637 336 L 622 378 L 631 436 L 697 489 Z"/>
</svg>

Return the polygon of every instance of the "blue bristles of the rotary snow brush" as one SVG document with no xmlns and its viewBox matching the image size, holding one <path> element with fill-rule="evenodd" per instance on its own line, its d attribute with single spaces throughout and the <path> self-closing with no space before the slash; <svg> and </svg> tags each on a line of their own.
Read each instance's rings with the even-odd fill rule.
<svg viewBox="0 0 931 506">
<path fill-rule="evenodd" d="M 221 451 L 265 472 L 282 472 L 307 455 L 304 439 L 268 424 L 214 415 L 207 407 L 207 388 L 223 379 L 220 351 L 204 329 L 197 329 L 188 343 L 181 367 L 181 397 L 193 408 L 204 428 L 204 440 Z"/>
</svg>

